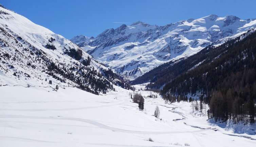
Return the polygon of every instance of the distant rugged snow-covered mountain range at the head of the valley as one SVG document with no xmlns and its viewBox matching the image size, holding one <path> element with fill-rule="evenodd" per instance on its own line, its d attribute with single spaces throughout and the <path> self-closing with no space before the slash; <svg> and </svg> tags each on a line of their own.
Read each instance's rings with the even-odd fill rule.
<svg viewBox="0 0 256 147">
<path fill-rule="evenodd" d="M 212 43 L 221 44 L 255 26 L 255 19 L 217 15 L 165 26 L 138 21 L 130 26 L 123 24 L 107 29 L 77 45 L 115 72 L 134 79 L 162 63 L 191 56 Z"/>
</svg>

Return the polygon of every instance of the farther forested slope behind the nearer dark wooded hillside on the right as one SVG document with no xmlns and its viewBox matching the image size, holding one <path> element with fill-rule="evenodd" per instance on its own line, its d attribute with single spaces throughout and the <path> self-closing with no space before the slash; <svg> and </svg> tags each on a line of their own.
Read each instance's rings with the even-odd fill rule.
<svg viewBox="0 0 256 147">
<path fill-rule="evenodd" d="M 247 33 L 251 32 L 249 30 Z M 247 33 L 240 35 L 237 39 L 243 38 Z M 233 42 L 233 41 L 230 41 Z M 195 55 L 184 57 L 177 61 L 171 61 L 165 64 L 162 64 L 151 71 L 145 73 L 144 75 L 136 78 L 131 81 L 132 84 L 141 84 L 150 81 L 150 84 L 147 85 L 149 89 L 161 89 L 163 85 L 175 79 L 177 76 L 186 72 L 190 69 L 195 68 L 196 66 L 212 61 L 215 57 L 225 52 L 226 44 L 222 44 L 218 48 L 210 45 L 198 52 Z"/>
</svg>

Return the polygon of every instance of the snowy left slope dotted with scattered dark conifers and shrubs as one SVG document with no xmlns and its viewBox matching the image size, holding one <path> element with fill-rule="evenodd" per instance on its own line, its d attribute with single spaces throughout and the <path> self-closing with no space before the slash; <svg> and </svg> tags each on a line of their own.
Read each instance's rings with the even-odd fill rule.
<svg viewBox="0 0 256 147">
<path fill-rule="evenodd" d="M 105 66 L 63 36 L 0 7 L 0 86 L 75 86 L 98 93 L 117 79 Z"/>
</svg>

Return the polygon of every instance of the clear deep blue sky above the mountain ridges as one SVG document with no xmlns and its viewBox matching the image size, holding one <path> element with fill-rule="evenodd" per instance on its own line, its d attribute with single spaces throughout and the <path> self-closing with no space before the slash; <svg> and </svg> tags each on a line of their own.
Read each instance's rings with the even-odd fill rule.
<svg viewBox="0 0 256 147">
<path fill-rule="evenodd" d="M 159 26 L 207 15 L 256 18 L 255 0 L 0 0 L 8 9 L 71 39 L 138 20 Z"/>
</svg>

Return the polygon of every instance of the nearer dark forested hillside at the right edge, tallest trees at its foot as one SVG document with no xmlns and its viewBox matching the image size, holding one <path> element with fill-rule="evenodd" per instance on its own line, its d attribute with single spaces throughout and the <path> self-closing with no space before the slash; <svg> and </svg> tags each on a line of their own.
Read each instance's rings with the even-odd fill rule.
<svg viewBox="0 0 256 147">
<path fill-rule="evenodd" d="M 222 53 L 212 59 L 210 53 L 214 52 Z M 208 54 L 210 58 L 166 84 L 162 95 L 203 95 L 209 103 L 209 117 L 215 121 L 254 123 L 255 53 L 256 32 L 249 31 L 242 40 L 238 37 L 219 47 L 204 49 L 199 54 Z"/>
</svg>

